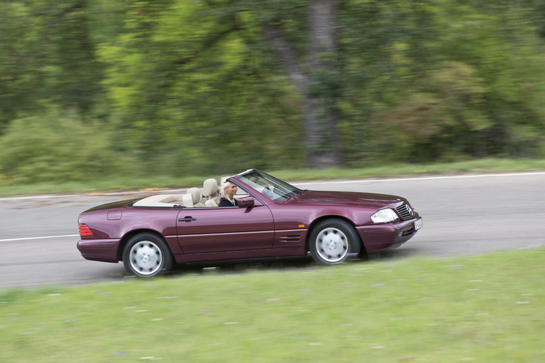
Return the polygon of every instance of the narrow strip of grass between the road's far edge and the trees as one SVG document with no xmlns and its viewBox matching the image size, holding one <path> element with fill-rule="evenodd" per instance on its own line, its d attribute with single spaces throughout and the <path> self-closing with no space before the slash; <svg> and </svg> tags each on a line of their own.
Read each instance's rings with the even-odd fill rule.
<svg viewBox="0 0 545 363">
<path fill-rule="evenodd" d="M 249 166 L 251 167 L 251 165 Z M 233 170 L 233 173 L 242 170 Z M 358 169 L 285 169 L 266 170 L 268 173 L 288 181 L 357 179 L 357 178 L 394 178 L 400 176 L 423 176 L 437 174 L 490 174 L 519 171 L 545 171 L 545 160 L 531 159 L 479 159 L 452 163 L 435 163 L 426 165 L 384 165 Z M 52 193 L 93 193 L 120 192 L 138 189 L 167 189 L 177 187 L 201 186 L 206 178 L 220 175 L 186 176 L 150 176 L 133 178 L 120 176 L 113 180 L 89 180 L 86 183 L 40 183 L 33 185 L 2 185 L 0 180 L 0 196 Z"/>
</svg>

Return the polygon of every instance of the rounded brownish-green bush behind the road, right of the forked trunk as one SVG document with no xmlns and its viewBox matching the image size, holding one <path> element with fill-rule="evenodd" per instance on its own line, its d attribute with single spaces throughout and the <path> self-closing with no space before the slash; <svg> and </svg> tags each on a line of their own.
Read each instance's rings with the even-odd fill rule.
<svg viewBox="0 0 545 363">
<path fill-rule="evenodd" d="M 418 88 L 406 100 L 378 113 L 377 128 L 391 125 L 377 138 L 391 160 L 452 157 L 474 145 L 486 147 L 475 140 L 492 126 L 484 82 L 465 64 L 439 66 L 418 80 Z"/>
</svg>

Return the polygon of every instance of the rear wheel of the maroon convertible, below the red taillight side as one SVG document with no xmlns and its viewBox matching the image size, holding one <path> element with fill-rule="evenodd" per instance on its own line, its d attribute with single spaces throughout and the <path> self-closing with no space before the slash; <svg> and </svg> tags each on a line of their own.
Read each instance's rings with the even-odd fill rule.
<svg viewBox="0 0 545 363">
<path fill-rule="evenodd" d="M 160 236 L 140 233 L 125 245 L 123 265 L 127 272 L 138 277 L 154 277 L 172 268 L 172 253 Z"/>
</svg>

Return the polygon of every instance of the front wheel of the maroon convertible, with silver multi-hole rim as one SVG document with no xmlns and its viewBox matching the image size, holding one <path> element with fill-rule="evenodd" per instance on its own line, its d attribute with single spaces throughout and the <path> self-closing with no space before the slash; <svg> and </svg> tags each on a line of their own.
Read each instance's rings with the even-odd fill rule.
<svg viewBox="0 0 545 363">
<path fill-rule="evenodd" d="M 321 221 L 308 236 L 311 256 L 321 265 L 338 265 L 358 257 L 362 241 L 351 223 L 338 218 Z"/>
</svg>

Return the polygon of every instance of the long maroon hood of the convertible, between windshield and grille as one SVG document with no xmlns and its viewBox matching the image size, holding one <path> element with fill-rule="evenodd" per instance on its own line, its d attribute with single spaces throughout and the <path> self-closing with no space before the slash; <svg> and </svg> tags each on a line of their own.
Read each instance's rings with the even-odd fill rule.
<svg viewBox="0 0 545 363">
<path fill-rule="evenodd" d="M 285 203 L 313 205 L 354 205 L 362 207 L 390 207 L 407 203 L 407 199 L 389 194 L 359 192 L 317 192 L 305 190 Z"/>
</svg>

